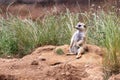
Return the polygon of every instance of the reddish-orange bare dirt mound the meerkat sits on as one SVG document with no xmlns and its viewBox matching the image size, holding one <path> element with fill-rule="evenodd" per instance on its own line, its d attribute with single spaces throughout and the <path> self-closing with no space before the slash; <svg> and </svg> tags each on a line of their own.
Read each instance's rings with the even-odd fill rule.
<svg viewBox="0 0 120 80">
<path fill-rule="evenodd" d="M 69 45 L 49 45 L 21 59 L 0 58 L 0 80 L 103 80 L 102 57 L 95 53 L 98 48 L 94 47 L 80 59 L 66 56 L 68 48 Z M 57 54 L 57 49 L 64 54 Z"/>
</svg>

